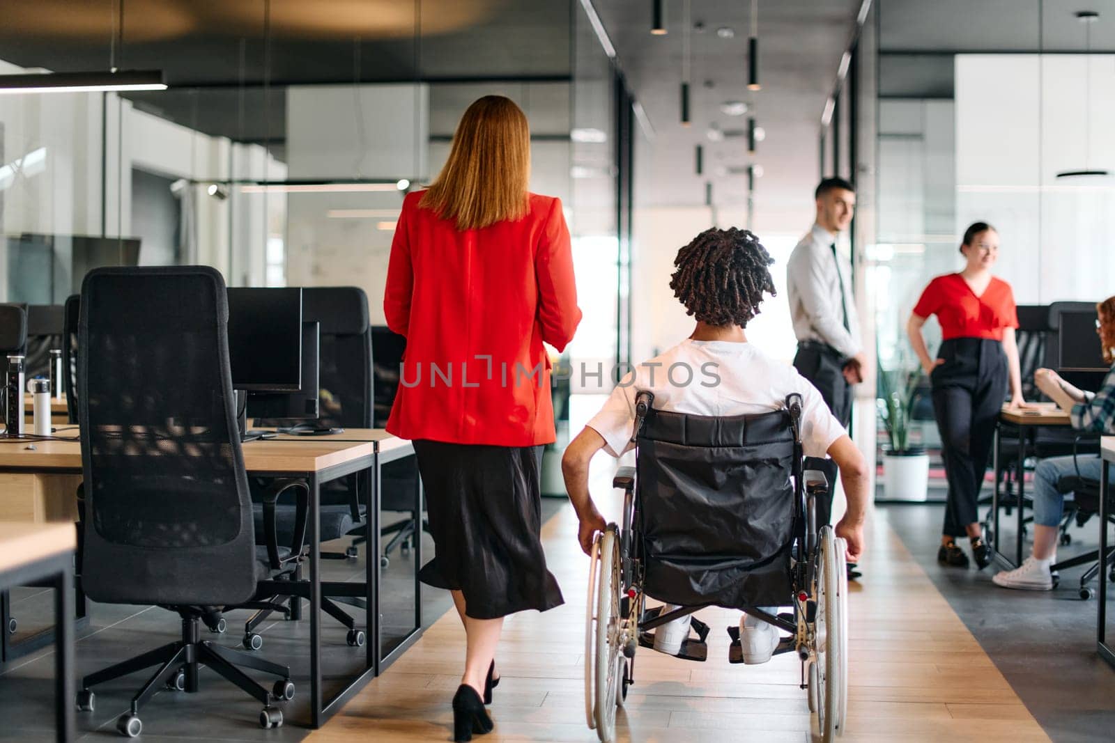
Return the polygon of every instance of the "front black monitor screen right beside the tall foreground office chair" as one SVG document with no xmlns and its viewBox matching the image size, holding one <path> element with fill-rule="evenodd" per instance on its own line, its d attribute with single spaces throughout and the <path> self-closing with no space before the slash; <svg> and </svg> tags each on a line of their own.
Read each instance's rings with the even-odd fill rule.
<svg viewBox="0 0 1115 743">
<path fill-rule="evenodd" d="M 232 387 L 255 392 L 302 389 L 302 290 L 230 289 Z"/>
</svg>

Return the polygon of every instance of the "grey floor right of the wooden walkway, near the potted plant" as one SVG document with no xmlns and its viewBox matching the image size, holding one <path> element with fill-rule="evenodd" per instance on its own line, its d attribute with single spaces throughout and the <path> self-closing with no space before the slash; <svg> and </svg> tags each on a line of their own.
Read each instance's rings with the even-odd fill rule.
<svg viewBox="0 0 1115 743">
<path fill-rule="evenodd" d="M 886 506 L 878 512 L 894 528 L 1050 739 L 1057 743 L 1115 740 L 1115 668 L 1096 654 L 1096 599 L 1082 602 L 1077 595 L 1083 567 L 1063 571 L 1059 586 L 1051 592 L 1007 590 L 991 583 L 995 566 L 977 571 L 975 567 L 960 570 L 937 564 L 943 507 Z M 1012 549 L 1014 529 L 1005 520 L 1000 528 L 1002 544 Z M 1058 559 L 1096 549 L 1096 519 L 1074 527 L 1072 534 L 1072 546 L 1059 547 Z M 967 550 L 967 540 L 958 544 Z M 1029 554 L 1029 542 L 1025 553 Z M 870 588 L 870 574 L 861 580 Z M 1107 606 L 1112 617 L 1107 634 L 1115 642 L 1115 600 L 1108 599 Z M 978 726 L 973 723 L 973 731 Z"/>
</svg>

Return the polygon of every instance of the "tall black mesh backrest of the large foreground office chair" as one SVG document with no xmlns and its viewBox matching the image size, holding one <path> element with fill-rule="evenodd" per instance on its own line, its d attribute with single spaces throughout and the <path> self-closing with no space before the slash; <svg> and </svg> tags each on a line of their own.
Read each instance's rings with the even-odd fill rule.
<svg viewBox="0 0 1115 743">
<path fill-rule="evenodd" d="M 83 580 L 94 600 L 224 605 L 254 593 L 227 320 L 224 281 L 207 266 L 97 268 L 81 285 Z"/>
</svg>

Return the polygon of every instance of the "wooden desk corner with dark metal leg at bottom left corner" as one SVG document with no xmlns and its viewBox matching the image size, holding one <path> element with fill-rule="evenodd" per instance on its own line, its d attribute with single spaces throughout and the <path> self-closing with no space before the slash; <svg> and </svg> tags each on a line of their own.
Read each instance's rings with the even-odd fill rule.
<svg viewBox="0 0 1115 743">
<path fill-rule="evenodd" d="M 74 549 L 71 524 L 0 521 L 0 634 L 8 634 L 7 592 L 50 580 L 55 588 L 55 730 L 58 741 L 74 740 Z M 7 661 L 8 658 L 0 658 Z M 3 686 L 0 678 L 0 688 Z"/>
</svg>

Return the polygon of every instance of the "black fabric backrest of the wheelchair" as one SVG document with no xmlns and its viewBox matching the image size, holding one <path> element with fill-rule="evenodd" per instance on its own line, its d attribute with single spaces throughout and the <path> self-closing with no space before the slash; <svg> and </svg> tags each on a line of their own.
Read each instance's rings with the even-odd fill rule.
<svg viewBox="0 0 1115 743">
<path fill-rule="evenodd" d="M 786 602 L 801 467 L 788 412 L 652 410 L 636 467 L 649 595 L 686 606 Z"/>
</svg>

